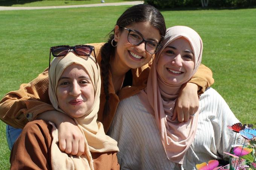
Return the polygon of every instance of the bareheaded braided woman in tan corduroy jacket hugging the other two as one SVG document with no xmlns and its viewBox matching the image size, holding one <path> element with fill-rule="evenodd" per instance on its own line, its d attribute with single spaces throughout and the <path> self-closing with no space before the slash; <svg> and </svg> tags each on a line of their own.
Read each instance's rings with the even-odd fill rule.
<svg viewBox="0 0 256 170">
<path fill-rule="evenodd" d="M 107 43 L 91 44 L 101 68 L 98 120 L 104 125 L 105 133 L 108 132 L 118 103 L 146 87 L 154 54 L 161 49 L 166 26 L 162 14 L 156 8 L 136 5 L 123 12 L 112 32 Z M 189 120 L 189 115 L 198 109 L 198 94 L 203 93 L 213 82 L 211 70 L 201 65 L 194 77 L 183 85 L 173 118 Z M 32 82 L 21 85 L 18 91 L 12 91 L 2 99 L 1 119 L 19 128 L 35 119 L 52 121 L 59 130 L 60 149 L 72 155 L 81 155 L 84 148 L 79 143 L 83 137 L 78 127 L 70 117 L 60 116 L 62 113 L 52 107 L 47 90 L 46 70 Z"/>
</svg>

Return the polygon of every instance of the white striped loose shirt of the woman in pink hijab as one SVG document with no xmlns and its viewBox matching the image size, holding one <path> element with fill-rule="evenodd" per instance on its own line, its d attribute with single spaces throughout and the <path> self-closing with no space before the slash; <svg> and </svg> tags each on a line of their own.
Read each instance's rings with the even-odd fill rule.
<svg viewBox="0 0 256 170">
<path fill-rule="evenodd" d="M 225 100 L 214 89 L 208 88 L 200 97 L 197 132 L 183 167 L 167 158 L 155 119 L 137 95 L 119 103 L 108 135 L 118 142 L 117 158 L 123 170 L 193 170 L 196 164 L 227 158 L 222 152 L 229 152 L 235 137 L 227 125 L 237 122 Z M 241 143 L 240 139 L 238 143 Z"/>
</svg>

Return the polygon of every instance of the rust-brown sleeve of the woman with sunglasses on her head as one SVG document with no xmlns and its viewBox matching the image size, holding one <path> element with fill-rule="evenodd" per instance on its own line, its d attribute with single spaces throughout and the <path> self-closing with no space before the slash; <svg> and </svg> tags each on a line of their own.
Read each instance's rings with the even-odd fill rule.
<svg viewBox="0 0 256 170">
<path fill-rule="evenodd" d="M 12 147 L 11 170 L 49 170 L 52 126 L 43 120 L 27 123 Z"/>
</svg>

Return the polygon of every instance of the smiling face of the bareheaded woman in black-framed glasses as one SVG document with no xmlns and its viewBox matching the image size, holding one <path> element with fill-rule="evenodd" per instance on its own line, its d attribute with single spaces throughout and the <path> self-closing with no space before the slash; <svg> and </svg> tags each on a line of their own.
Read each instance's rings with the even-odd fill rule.
<svg viewBox="0 0 256 170">
<path fill-rule="evenodd" d="M 160 42 L 159 31 L 149 22 L 133 23 L 126 28 L 139 32 L 146 41 Z M 128 33 L 128 30 L 115 26 L 114 40 L 117 42 L 115 60 L 118 60 L 125 69 L 142 67 L 150 61 L 153 55 L 145 50 L 145 42 L 137 46 L 129 43 Z"/>
</svg>

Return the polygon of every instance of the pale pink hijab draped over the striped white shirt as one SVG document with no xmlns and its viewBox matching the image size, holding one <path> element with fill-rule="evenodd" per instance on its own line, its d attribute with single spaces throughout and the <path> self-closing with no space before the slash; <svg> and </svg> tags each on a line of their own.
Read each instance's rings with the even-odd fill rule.
<svg viewBox="0 0 256 170">
<path fill-rule="evenodd" d="M 193 50 L 195 66 L 192 74 L 184 82 L 172 85 L 165 82 L 157 73 L 157 61 L 163 49 L 169 43 L 180 37 L 186 38 Z M 182 164 L 184 155 L 194 140 L 197 129 L 198 111 L 190 116 L 188 122 L 172 121 L 175 102 L 178 97 L 181 85 L 198 70 L 203 52 L 203 42 L 193 29 L 186 26 L 174 26 L 166 30 L 163 48 L 158 52 L 149 72 L 147 87 L 139 93 L 139 98 L 149 113 L 154 115 L 157 126 L 160 130 L 160 137 L 169 160 Z M 147 93 L 148 92 L 148 93 Z M 168 92 L 168 93 L 166 93 Z M 168 101 L 163 100 L 169 99 Z"/>
</svg>

